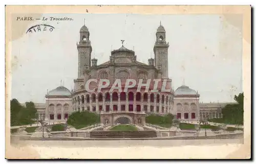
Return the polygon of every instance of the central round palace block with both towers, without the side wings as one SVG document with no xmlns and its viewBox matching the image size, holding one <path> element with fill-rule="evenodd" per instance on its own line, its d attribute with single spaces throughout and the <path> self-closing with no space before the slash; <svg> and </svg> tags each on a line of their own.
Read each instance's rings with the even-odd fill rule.
<svg viewBox="0 0 256 164">
<path fill-rule="evenodd" d="M 121 41 L 123 43 L 124 40 Z M 148 59 L 148 64 L 138 62 L 135 52 L 122 45 L 120 49 L 111 52 L 109 61 L 97 65 L 97 59 L 91 59 L 89 29 L 82 26 L 77 44 L 78 78 L 74 80 L 75 88 L 72 93 L 74 110 L 98 112 L 101 123 L 110 125 L 145 124 L 147 112 L 169 113 L 173 107 L 173 90 L 161 92 L 159 86 L 159 92 L 151 92 L 154 81 L 149 84 L 148 91 L 142 86 L 138 92 L 137 84 L 125 92 L 118 89 L 110 91 L 110 87 L 102 88 L 98 92 L 97 83 L 90 85 L 91 88 L 96 87 L 94 92 L 87 92 L 85 89 L 89 79 L 108 79 L 110 86 L 116 79 L 120 79 L 122 90 L 126 79 L 134 79 L 137 83 L 142 79 L 143 84 L 147 83 L 147 79 L 165 79 L 165 89 L 171 89 L 172 80 L 168 79 L 168 47 L 164 27 L 160 25 L 156 32 L 155 59 Z"/>
</svg>

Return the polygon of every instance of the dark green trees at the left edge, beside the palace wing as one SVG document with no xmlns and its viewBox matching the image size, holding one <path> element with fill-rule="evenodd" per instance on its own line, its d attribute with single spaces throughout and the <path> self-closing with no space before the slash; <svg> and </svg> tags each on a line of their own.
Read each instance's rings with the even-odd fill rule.
<svg viewBox="0 0 256 164">
<path fill-rule="evenodd" d="M 21 105 L 18 100 L 11 100 L 11 126 L 33 124 L 37 119 L 37 111 L 33 102 Z"/>
</svg>

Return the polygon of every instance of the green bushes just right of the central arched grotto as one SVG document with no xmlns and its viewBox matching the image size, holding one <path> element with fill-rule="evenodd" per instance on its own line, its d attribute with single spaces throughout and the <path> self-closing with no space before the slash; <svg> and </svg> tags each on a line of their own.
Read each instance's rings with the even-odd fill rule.
<svg viewBox="0 0 256 164">
<path fill-rule="evenodd" d="M 151 115 L 146 116 L 146 123 L 169 128 L 172 126 L 173 119 L 174 119 L 173 114 L 167 114 L 164 116 L 151 114 Z"/>
</svg>

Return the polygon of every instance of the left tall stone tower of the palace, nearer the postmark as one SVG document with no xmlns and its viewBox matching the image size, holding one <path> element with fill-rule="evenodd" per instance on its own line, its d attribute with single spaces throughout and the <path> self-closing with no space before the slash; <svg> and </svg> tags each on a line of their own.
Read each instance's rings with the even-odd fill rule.
<svg viewBox="0 0 256 164">
<path fill-rule="evenodd" d="M 91 53 L 92 46 L 89 40 L 90 32 L 84 24 L 80 29 L 80 41 L 77 44 L 78 50 L 78 78 L 83 76 L 83 70 L 85 67 L 91 67 Z"/>
</svg>

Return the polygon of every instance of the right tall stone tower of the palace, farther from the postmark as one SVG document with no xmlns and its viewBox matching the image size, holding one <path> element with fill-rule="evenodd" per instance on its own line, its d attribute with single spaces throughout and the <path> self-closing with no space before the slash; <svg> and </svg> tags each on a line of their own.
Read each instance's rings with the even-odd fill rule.
<svg viewBox="0 0 256 164">
<path fill-rule="evenodd" d="M 157 29 L 156 43 L 154 46 L 155 67 L 161 69 L 162 78 L 168 78 L 168 48 L 169 43 L 165 40 L 165 30 L 161 25 Z"/>
</svg>

